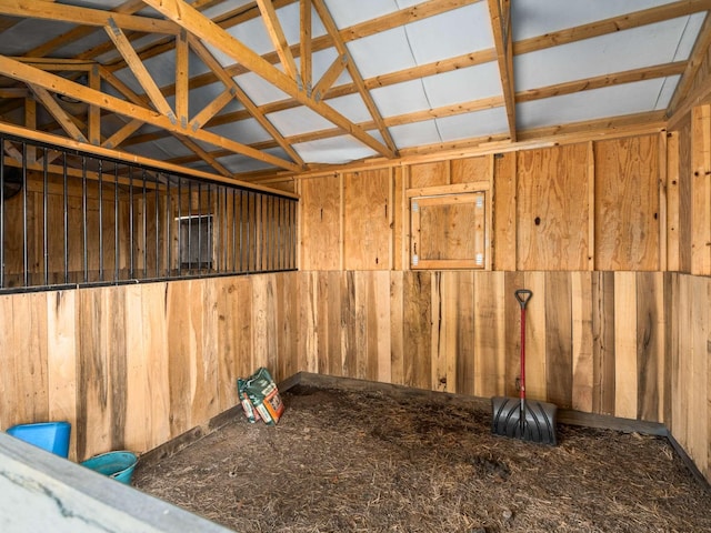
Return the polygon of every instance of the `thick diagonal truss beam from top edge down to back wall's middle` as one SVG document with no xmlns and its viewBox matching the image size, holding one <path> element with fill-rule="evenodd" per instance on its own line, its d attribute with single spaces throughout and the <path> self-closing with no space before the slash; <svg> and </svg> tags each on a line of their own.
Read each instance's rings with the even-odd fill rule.
<svg viewBox="0 0 711 533">
<path fill-rule="evenodd" d="M 328 121 L 341 128 L 346 133 L 351 134 L 360 142 L 371 148 L 375 152 L 393 158 L 394 153 L 380 141 L 369 135 L 365 131 L 358 128 L 353 122 L 348 120 L 334 109 L 328 107 L 323 102 L 316 102 L 307 97 L 306 92 L 300 91 L 297 82 L 287 74 L 274 68 L 266 61 L 261 56 L 246 47 L 241 41 L 232 37 L 230 33 L 221 29 L 210 19 L 200 14 L 190 6 L 181 0 L 144 0 L 146 3 L 167 18 L 181 24 L 186 30 L 203 42 L 217 48 L 222 53 L 228 54 L 236 61 L 241 62 L 249 70 L 260 76 L 278 89 L 294 98 L 302 105 L 316 111 Z"/>
</svg>

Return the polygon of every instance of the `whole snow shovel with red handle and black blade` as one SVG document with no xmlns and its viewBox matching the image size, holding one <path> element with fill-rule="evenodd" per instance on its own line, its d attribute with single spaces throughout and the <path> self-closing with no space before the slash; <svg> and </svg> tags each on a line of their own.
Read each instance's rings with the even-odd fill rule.
<svg viewBox="0 0 711 533">
<path fill-rule="evenodd" d="M 558 406 L 552 403 L 525 400 L 525 304 L 533 293 L 528 289 L 519 289 L 514 295 L 521 305 L 521 398 L 491 399 L 491 432 L 554 446 L 558 444 L 555 436 Z"/>
</svg>

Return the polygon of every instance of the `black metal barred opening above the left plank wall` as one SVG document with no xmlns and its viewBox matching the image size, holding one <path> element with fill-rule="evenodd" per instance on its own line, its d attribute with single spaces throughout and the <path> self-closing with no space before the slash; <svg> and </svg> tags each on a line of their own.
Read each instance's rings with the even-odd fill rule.
<svg viewBox="0 0 711 533">
<path fill-rule="evenodd" d="M 0 291 L 296 270 L 298 200 L 0 135 Z"/>
</svg>

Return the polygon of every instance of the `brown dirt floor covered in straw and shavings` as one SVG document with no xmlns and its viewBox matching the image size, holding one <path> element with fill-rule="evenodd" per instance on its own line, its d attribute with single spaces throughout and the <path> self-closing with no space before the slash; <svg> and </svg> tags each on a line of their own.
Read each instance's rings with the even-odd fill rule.
<svg viewBox="0 0 711 533">
<path fill-rule="evenodd" d="M 495 436 L 451 396 L 297 385 L 279 425 L 238 418 L 133 485 L 240 532 L 702 532 L 711 494 L 665 439 L 560 425 Z"/>
</svg>

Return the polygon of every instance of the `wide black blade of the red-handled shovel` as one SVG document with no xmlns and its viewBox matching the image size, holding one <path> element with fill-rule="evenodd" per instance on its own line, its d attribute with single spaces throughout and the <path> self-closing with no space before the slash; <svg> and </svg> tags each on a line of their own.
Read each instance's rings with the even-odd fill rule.
<svg viewBox="0 0 711 533">
<path fill-rule="evenodd" d="M 522 419 L 520 399 L 492 398 L 491 432 L 495 435 L 557 445 L 558 406 L 552 403 L 535 401 L 525 401 L 524 406 L 525 415 Z"/>
</svg>

